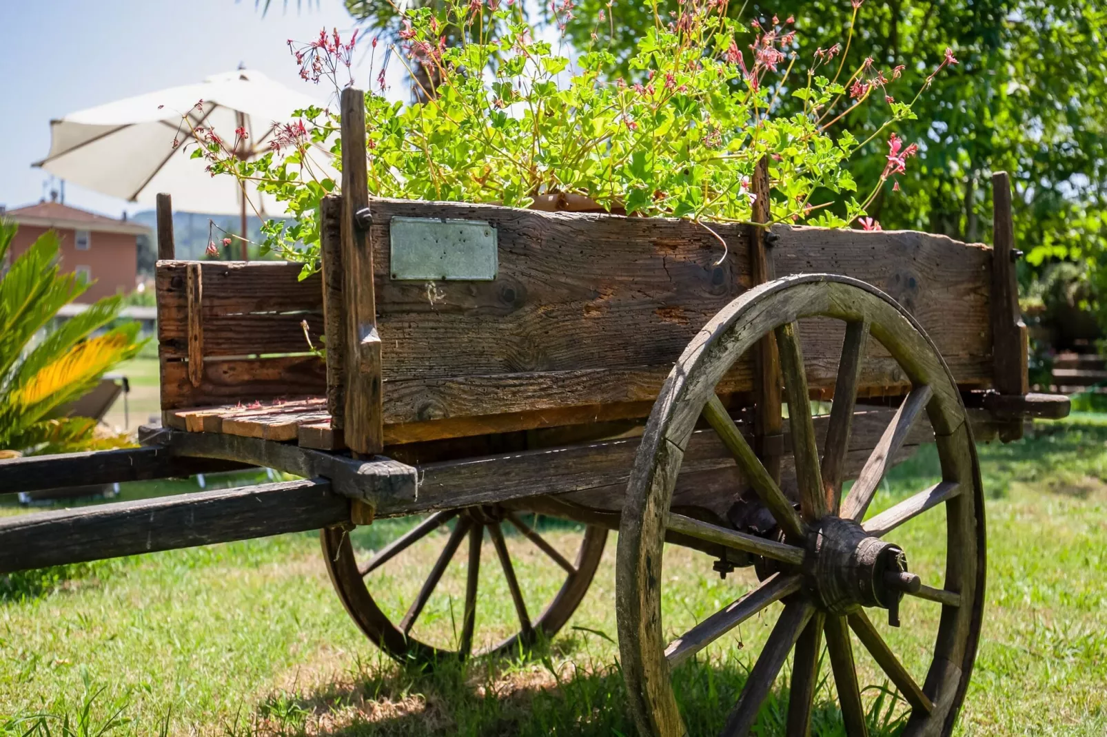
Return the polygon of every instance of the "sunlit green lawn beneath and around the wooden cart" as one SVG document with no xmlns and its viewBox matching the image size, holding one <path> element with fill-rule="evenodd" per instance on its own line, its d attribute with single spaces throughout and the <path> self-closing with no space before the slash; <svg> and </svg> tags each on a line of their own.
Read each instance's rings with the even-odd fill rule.
<svg viewBox="0 0 1107 737">
<path fill-rule="evenodd" d="M 982 446 L 981 459 L 990 494 L 986 621 L 958 734 L 1103 735 L 1107 423 L 1083 416 L 1038 425 L 1020 443 Z M 894 469 L 873 511 L 930 482 L 935 463 L 928 448 Z M 124 494 L 153 491 L 137 486 Z M 355 546 L 379 549 L 411 525 L 359 528 Z M 923 578 L 935 578 L 941 565 L 942 529 L 939 511 L 897 538 Z M 578 539 L 563 525 L 544 534 L 567 554 Z M 431 536 L 397 558 L 397 568 L 371 574 L 394 619 L 444 539 L 445 531 Z M 519 536 L 508 547 L 537 610 L 556 588 L 555 569 Z M 393 664 L 364 640 L 334 595 L 311 534 L 11 577 L 0 600 L 0 735 L 40 723 L 39 734 L 62 734 L 66 715 L 71 726 L 83 718 L 89 728 L 73 734 L 92 735 L 105 725 L 110 735 L 630 735 L 612 640 L 614 548 L 612 534 L 569 626 L 534 656 L 478 658 L 432 675 Z M 420 617 L 417 636 L 455 642 L 463 559 L 464 548 Z M 490 643 L 513 629 L 515 612 L 487 541 L 483 561 L 478 619 L 488 626 L 478 639 Z M 711 563 L 683 549 L 666 553 L 666 626 L 686 629 L 754 581 L 743 570 L 721 580 Z M 910 600 L 902 629 L 873 619 L 920 674 L 937 616 L 935 605 Z M 679 671 L 693 729 L 725 716 L 773 621 L 746 623 Z M 873 734 L 896 734 L 902 707 L 883 695 L 883 679 L 866 657 L 859 663 Z M 787 669 L 763 710 L 762 734 L 780 734 Z M 817 696 L 819 735 L 842 734 L 831 688 L 825 683 Z"/>
</svg>

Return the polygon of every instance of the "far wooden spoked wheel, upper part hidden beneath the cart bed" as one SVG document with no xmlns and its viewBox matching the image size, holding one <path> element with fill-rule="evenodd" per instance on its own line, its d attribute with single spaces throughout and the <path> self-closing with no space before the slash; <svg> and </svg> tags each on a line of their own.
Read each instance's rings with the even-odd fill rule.
<svg viewBox="0 0 1107 737">
<path fill-rule="evenodd" d="M 366 585 L 366 577 L 381 569 L 404 550 L 423 540 L 428 534 L 453 520 L 453 528 L 446 538 L 446 543 L 418 594 L 407 609 L 406 614 L 394 624 L 374 601 Z M 541 612 L 537 620 L 531 621 L 523 590 L 516 578 L 515 567 L 507 543 L 504 540 L 504 526 L 509 525 L 523 537 L 535 544 L 549 558 L 549 570 L 545 575 L 555 575 L 558 569 L 563 569 L 565 583 Z M 516 615 L 519 630 L 506 640 L 474 653 L 476 640 L 476 609 L 479 589 L 480 551 L 488 531 L 496 558 L 503 569 Z M 412 629 L 426 606 L 431 594 L 441 582 L 449 562 L 468 537 L 468 557 L 465 581 L 465 604 L 461 612 L 461 633 L 456 648 L 438 647 L 421 642 L 412 636 Z M 358 562 L 354 547 L 340 528 L 324 529 L 321 532 L 323 558 L 331 582 L 342 599 L 350 616 L 379 647 L 401 662 L 416 662 L 433 665 L 437 661 L 452 657 L 466 658 L 470 655 L 515 655 L 532 646 L 540 637 L 552 637 L 569 620 L 581 599 L 588 591 L 596 569 L 603 554 L 608 530 L 600 527 L 588 527 L 582 536 L 576 559 L 570 562 L 554 546 L 547 542 L 518 512 L 496 506 L 472 507 L 467 509 L 448 509 L 430 515 L 412 530 L 396 538 L 379 550 L 369 561 Z"/>
</svg>

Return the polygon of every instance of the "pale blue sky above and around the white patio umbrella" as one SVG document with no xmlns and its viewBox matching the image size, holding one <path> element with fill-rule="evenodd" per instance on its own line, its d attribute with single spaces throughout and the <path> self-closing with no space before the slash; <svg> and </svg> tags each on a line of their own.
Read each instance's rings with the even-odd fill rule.
<svg viewBox="0 0 1107 737">
<path fill-rule="evenodd" d="M 352 30 L 353 22 L 341 0 L 288 6 L 272 0 L 262 18 L 254 0 L 0 0 L 0 204 L 43 196 L 49 175 L 31 163 L 50 147 L 50 120 L 66 113 L 199 82 L 240 62 L 324 101 L 322 84 L 298 76 L 286 41 L 310 40 L 324 25 Z M 370 77 L 366 58 L 354 80 L 368 86 Z M 390 81 L 390 96 L 405 96 L 399 76 Z M 114 217 L 143 209 L 73 185 L 65 201 Z"/>
</svg>

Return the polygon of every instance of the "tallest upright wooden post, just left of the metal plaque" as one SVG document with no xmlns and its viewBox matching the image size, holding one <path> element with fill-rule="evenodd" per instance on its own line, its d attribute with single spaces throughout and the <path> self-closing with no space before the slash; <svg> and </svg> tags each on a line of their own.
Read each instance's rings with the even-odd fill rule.
<svg viewBox="0 0 1107 737">
<path fill-rule="evenodd" d="M 381 338 L 376 333 L 373 294 L 373 248 L 368 228 L 355 219 L 369 207 L 365 165 L 365 97 L 361 90 L 342 91 L 342 271 L 345 308 L 345 413 L 343 433 L 356 454 L 384 447 L 381 396 Z"/>
</svg>

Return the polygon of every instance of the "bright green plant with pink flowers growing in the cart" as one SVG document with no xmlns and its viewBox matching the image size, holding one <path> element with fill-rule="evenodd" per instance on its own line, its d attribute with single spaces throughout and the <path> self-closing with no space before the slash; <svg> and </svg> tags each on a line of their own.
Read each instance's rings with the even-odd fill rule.
<svg viewBox="0 0 1107 737">
<path fill-rule="evenodd" d="M 559 25 L 573 1 L 551 3 Z M 852 3 L 856 22 L 861 2 Z M 751 178 L 767 156 L 773 221 L 848 227 L 918 150 L 892 134 L 888 166 L 858 199 L 845 168 L 850 155 L 914 117 L 911 103 L 891 91 L 902 68 L 886 74 L 866 59 L 847 75 L 834 44 L 815 52 L 806 75 L 796 74 L 793 18 L 746 25 L 726 17 L 725 0 L 680 0 L 663 19 L 654 6 L 655 25 L 630 60 L 634 77 L 609 80 L 604 71 L 615 60 L 596 34 L 592 48 L 571 60 L 536 39 L 519 4 L 449 0 L 441 17 L 430 8 L 403 13 L 400 42 L 383 52 L 384 64 L 396 58 L 405 65 L 420 102 L 386 100 L 381 65 L 377 91 L 365 95 L 371 195 L 509 207 L 575 196 L 613 212 L 686 218 L 710 229 L 751 220 Z M 377 40 L 372 44 L 375 58 Z M 302 76 L 335 82 L 337 70 L 350 69 L 352 45 L 337 32 L 307 46 L 290 43 Z M 950 51 L 923 89 L 949 63 L 956 63 Z M 778 113 L 785 95 L 800 100 L 801 111 Z M 865 141 L 835 135 L 835 124 L 866 104 L 887 110 L 883 125 Z M 333 112 L 298 115 L 257 160 L 226 156 L 215 145 L 194 155 L 209 158 L 213 172 L 257 180 L 287 204 L 294 222 L 270 221 L 266 246 L 304 261 L 308 273 L 318 261 L 317 208 L 335 188 L 312 174 L 308 153 L 323 146 L 338 155 L 341 141 Z"/>
</svg>

